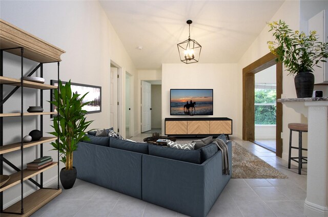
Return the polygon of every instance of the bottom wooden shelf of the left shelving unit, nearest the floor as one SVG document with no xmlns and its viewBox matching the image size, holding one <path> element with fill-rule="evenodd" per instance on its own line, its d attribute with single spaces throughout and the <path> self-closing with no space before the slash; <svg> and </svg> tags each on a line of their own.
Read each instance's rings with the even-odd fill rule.
<svg viewBox="0 0 328 217">
<path fill-rule="evenodd" d="M 16 215 L 16 214 L 7 214 L 1 213 L 1 217 L 17 217 L 17 216 L 30 216 L 34 212 L 36 212 L 39 208 L 46 205 L 49 201 L 57 197 L 61 193 L 61 189 L 39 189 L 29 196 L 24 198 L 24 214 Z M 4 210 L 5 212 L 20 212 L 20 201 L 8 207 Z"/>
</svg>

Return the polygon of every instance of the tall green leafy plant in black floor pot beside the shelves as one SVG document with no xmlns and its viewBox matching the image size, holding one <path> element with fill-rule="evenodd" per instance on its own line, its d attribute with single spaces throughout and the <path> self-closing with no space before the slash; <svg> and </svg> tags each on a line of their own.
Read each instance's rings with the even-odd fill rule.
<svg viewBox="0 0 328 217">
<path fill-rule="evenodd" d="M 86 121 L 87 111 L 83 110 L 83 106 L 90 102 L 84 102 L 88 93 L 82 97 L 72 93 L 71 80 L 65 85 L 59 80 L 58 88 L 59 93 L 58 90 L 54 90 L 54 101 L 50 101 L 59 112 L 59 115 L 53 118 L 52 127 L 55 132 L 50 134 L 59 136 L 59 141 L 51 144 L 54 150 L 59 150 L 60 161 L 65 163 L 59 176 L 63 187 L 69 189 L 73 187 L 77 175 L 76 168 L 73 167 L 73 151 L 77 149 L 79 141 L 89 140 L 84 132 L 92 121 Z"/>
</svg>

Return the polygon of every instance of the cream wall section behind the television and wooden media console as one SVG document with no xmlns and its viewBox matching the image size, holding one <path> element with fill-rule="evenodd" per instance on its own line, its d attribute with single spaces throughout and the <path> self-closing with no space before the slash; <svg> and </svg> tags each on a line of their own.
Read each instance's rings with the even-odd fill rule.
<svg viewBox="0 0 328 217">
<path fill-rule="evenodd" d="M 213 89 L 213 116 L 233 120 L 233 135 L 237 125 L 237 64 L 162 64 L 162 134 L 164 119 L 170 116 L 170 89 Z"/>
</svg>

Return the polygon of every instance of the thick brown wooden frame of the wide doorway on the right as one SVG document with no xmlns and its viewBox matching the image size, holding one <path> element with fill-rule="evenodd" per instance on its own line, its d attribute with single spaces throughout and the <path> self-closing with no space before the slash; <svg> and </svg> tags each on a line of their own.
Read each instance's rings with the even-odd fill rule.
<svg viewBox="0 0 328 217">
<path fill-rule="evenodd" d="M 276 98 L 282 94 L 282 64 L 272 53 L 261 57 L 242 69 L 242 139 L 255 141 L 255 74 L 276 66 Z M 282 157 L 282 104 L 276 105 L 276 156 Z"/>
</svg>

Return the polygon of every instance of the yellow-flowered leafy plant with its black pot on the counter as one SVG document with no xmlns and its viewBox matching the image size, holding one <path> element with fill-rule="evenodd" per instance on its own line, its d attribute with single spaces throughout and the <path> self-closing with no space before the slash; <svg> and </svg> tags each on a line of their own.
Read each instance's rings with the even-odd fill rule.
<svg viewBox="0 0 328 217">
<path fill-rule="evenodd" d="M 270 51 L 277 56 L 288 69 L 289 75 L 295 75 L 295 89 L 298 98 L 312 97 L 314 88 L 313 68 L 319 61 L 328 58 L 328 43 L 318 41 L 316 31 L 310 35 L 298 30 L 293 31 L 284 21 L 268 23 L 275 41 L 268 41 Z M 317 66 L 320 67 L 320 66 Z"/>
</svg>

